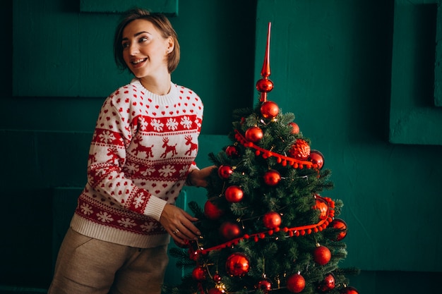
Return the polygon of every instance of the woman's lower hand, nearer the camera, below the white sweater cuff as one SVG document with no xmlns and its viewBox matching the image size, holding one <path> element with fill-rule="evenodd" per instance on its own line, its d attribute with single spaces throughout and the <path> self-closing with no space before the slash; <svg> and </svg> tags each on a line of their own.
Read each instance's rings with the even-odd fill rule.
<svg viewBox="0 0 442 294">
<path fill-rule="evenodd" d="M 172 204 L 166 204 L 160 216 L 162 226 L 179 244 L 185 244 L 186 240 L 197 240 L 201 235 L 198 228 L 193 225 L 193 221 L 198 219 Z"/>
</svg>

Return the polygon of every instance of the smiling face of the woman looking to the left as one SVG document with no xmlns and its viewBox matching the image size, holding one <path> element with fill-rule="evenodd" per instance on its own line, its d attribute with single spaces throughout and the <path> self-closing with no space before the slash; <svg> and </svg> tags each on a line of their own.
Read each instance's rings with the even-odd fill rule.
<svg viewBox="0 0 442 294">
<path fill-rule="evenodd" d="M 173 49 L 173 39 L 163 38 L 148 20 L 133 20 L 123 30 L 123 58 L 137 78 L 168 73 L 167 54 Z"/>
</svg>

